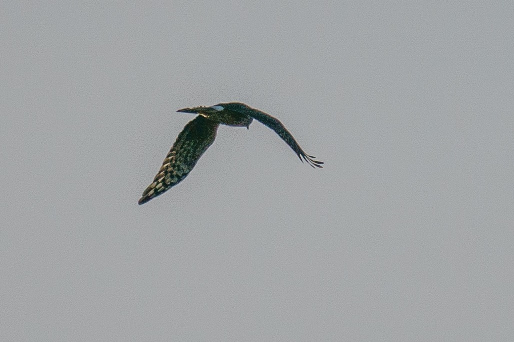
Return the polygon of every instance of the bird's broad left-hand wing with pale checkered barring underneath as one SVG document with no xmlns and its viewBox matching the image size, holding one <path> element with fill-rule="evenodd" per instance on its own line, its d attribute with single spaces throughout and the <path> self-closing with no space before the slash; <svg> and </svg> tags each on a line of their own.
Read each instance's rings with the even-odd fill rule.
<svg viewBox="0 0 514 342">
<path fill-rule="evenodd" d="M 139 205 L 162 195 L 187 177 L 200 156 L 214 142 L 218 125 L 198 115 L 184 127 L 164 158 L 154 182 L 144 190 Z"/>
</svg>

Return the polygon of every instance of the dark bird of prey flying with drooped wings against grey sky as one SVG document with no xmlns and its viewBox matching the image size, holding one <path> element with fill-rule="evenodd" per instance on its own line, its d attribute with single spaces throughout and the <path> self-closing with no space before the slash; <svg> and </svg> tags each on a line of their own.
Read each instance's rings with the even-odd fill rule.
<svg viewBox="0 0 514 342">
<path fill-rule="evenodd" d="M 322 168 L 323 162 L 305 153 L 279 119 L 244 103 L 226 102 L 214 106 L 182 108 L 177 112 L 199 115 L 178 134 L 152 184 L 144 190 L 139 199 L 139 205 L 162 195 L 186 178 L 200 156 L 214 142 L 219 125 L 249 129 L 253 119 L 258 120 L 275 131 L 295 151 L 302 163 L 305 160 L 313 168 Z"/>
</svg>

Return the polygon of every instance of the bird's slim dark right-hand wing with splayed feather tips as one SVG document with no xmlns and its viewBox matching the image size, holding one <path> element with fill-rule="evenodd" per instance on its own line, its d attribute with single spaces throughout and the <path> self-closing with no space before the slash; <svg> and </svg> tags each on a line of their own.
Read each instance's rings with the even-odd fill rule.
<svg viewBox="0 0 514 342">
<path fill-rule="evenodd" d="M 259 120 L 261 123 L 268 126 L 273 131 L 277 132 L 277 134 L 280 135 L 280 137 L 287 143 L 287 145 L 289 145 L 293 149 L 293 151 L 296 152 L 296 154 L 298 155 L 300 160 L 302 160 L 302 162 L 303 162 L 303 159 L 305 159 L 305 161 L 310 166 L 312 166 L 312 167 L 316 166 L 318 168 L 322 168 L 321 164 L 323 164 L 323 162 L 320 162 L 319 160 L 315 160 L 314 159 L 314 158 L 316 158 L 315 156 L 308 155 L 307 153 L 305 153 L 302 150 L 302 148 L 300 147 L 300 145 L 298 145 L 298 143 L 296 142 L 296 140 L 292 136 L 292 134 L 284 127 L 284 125 L 280 122 L 279 119 L 277 119 L 263 111 L 260 111 L 258 109 L 248 107 L 245 104 L 234 103 L 234 105 L 236 105 L 236 108 L 234 108 L 235 106 L 229 107 L 230 103 L 221 104 L 221 105 L 225 105 L 228 108 L 230 108 L 231 110 L 242 112 L 246 115 L 253 117 L 256 120 Z"/>
</svg>

